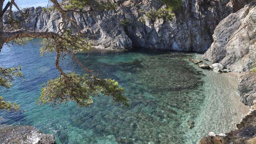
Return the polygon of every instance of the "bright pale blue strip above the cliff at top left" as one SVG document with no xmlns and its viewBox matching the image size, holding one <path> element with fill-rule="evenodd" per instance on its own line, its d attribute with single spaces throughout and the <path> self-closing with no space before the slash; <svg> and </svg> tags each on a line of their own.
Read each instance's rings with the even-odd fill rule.
<svg viewBox="0 0 256 144">
<path fill-rule="evenodd" d="M 4 6 L 7 4 L 9 0 L 4 1 Z M 35 8 L 38 6 L 47 6 L 48 0 L 15 0 L 16 4 L 20 8 L 28 8 L 34 6 Z M 14 8 L 14 6 L 13 6 Z M 15 9 L 14 9 L 15 10 Z"/>
</svg>

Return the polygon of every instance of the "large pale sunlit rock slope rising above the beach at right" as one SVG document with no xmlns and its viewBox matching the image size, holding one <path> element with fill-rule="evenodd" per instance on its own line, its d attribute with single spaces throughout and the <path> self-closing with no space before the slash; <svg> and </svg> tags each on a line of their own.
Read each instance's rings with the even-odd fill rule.
<svg viewBox="0 0 256 144">
<path fill-rule="evenodd" d="M 256 2 L 230 14 L 214 30 L 211 47 L 202 56 L 236 72 L 252 68 L 256 56 Z"/>
</svg>

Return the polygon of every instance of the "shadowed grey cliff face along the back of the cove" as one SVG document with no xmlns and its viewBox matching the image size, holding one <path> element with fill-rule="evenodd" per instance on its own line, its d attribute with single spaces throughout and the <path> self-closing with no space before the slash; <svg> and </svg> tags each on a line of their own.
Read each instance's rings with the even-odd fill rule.
<svg viewBox="0 0 256 144">
<path fill-rule="evenodd" d="M 131 49 L 134 47 L 187 52 L 205 52 L 211 45 L 218 23 L 242 8 L 247 0 L 183 0 L 183 8 L 174 20 L 150 20 L 144 12 L 162 5 L 148 0 L 117 0 L 115 11 L 104 11 L 92 17 L 72 14 L 83 31 L 98 48 Z M 26 28 L 58 31 L 60 14 L 28 8 L 31 17 Z M 128 23 L 122 25 L 123 20 Z"/>
</svg>

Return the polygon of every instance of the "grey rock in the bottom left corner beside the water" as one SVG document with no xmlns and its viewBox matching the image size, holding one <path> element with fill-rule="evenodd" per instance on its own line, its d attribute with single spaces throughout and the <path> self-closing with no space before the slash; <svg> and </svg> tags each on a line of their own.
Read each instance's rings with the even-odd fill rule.
<svg viewBox="0 0 256 144">
<path fill-rule="evenodd" d="M 1 144 L 55 144 L 54 135 L 42 134 L 33 126 L 0 125 Z"/>
</svg>

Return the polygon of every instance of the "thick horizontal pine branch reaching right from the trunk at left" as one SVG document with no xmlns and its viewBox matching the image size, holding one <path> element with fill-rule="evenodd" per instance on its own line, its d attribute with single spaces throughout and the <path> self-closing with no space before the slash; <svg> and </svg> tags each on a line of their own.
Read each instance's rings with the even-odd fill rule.
<svg viewBox="0 0 256 144">
<path fill-rule="evenodd" d="M 10 42 L 11 40 L 17 38 L 53 38 L 55 39 L 58 37 L 58 34 L 54 32 L 35 32 L 30 30 L 15 30 L 12 32 L 5 32 L 4 33 L 4 42 Z"/>
</svg>

